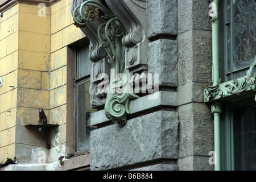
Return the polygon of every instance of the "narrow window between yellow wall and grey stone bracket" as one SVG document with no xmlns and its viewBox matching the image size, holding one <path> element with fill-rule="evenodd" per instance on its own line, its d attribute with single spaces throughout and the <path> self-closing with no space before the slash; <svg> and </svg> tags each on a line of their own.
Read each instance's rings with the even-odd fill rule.
<svg viewBox="0 0 256 182">
<path fill-rule="evenodd" d="M 90 147 L 90 131 L 94 128 L 90 126 L 90 113 L 94 109 L 90 108 L 90 68 L 89 43 L 76 48 L 76 122 L 75 122 L 75 151 L 88 151 Z"/>
</svg>

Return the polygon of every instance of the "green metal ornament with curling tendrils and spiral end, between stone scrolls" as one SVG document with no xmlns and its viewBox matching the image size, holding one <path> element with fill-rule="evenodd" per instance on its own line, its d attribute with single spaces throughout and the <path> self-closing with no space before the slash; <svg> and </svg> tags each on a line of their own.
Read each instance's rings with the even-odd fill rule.
<svg viewBox="0 0 256 182">
<path fill-rule="evenodd" d="M 104 1 L 89 0 L 81 3 L 81 5 L 77 6 L 73 11 L 73 19 L 77 27 L 85 27 L 86 24 L 91 22 L 97 22 L 99 24 L 97 39 L 102 46 L 96 50 L 98 51 L 96 56 L 92 53 L 91 57 L 97 60 L 98 55 L 105 56 L 104 53 L 106 52 L 108 62 L 111 68 L 115 70 L 114 76 L 116 77 L 119 73 L 128 76 L 129 71 L 125 69 L 125 46 L 122 44 L 122 39 L 127 35 L 127 31 L 122 23 L 114 16 L 112 11 L 104 5 Z M 136 41 L 137 39 L 141 40 L 141 37 L 138 35 L 134 38 Z M 102 48 L 105 49 L 105 52 L 102 51 Z M 96 64 L 94 76 L 101 72 L 101 65 Z M 120 81 L 116 80 L 116 78 L 110 79 L 113 79 L 115 82 L 114 88 L 120 84 Z M 109 88 L 111 89 L 111 86 L 109 86 Z M 138 96 L 126 92 L 129 88 L 121 93 L 112 93 L 110 89 L 106 96 L 105 114 L 113 123 L 118 123 L 119 126 L 122 127 L 126 124 L 126 115 L 130 113 L 130 99 L 138 98 Z"/>
</svg>

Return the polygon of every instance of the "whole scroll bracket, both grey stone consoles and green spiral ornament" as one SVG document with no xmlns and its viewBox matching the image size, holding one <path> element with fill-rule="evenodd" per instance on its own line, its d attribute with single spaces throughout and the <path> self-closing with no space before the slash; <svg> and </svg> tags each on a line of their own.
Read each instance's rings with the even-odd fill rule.
<svg viewBox="0 0 256 182">
<path fill-rule="evenodd" d="M 129 71 L 141 72 L 147 69 L 145 66 L 147 57 L 143 59 L 140 57 L 141 43 L 145 39 L 143 27 L 130 11 L 131 6 L 135 5 L 134 2 L 136 1 L 73 0 L 71 7 L 74 24 L 81 28 L 93 44 L 89 55 L 90 60 L 93 61 L 92 80 L 94 81 L 100 73 L 108 71 L 106 69 L 108 68 L 106 60 L 108 60 L 110 67 L 114 69 L 115 78 L 110 78 L 110 80 L 114 79 L 114 89 L 117 85 L 122 85 L 122 89 L 126 89 L 123 92 L 111 92 L 112 88 L 109 86 L 106 96 L 106 117 L 119 126 L 124 126 L 126 123 L 130 99 L 138 96 L 129 92 L 130 87 L 127 82 L 123 84 L 123 80 L 116 77 L 123 74 L 128 78 Z M 140 1 L 137 6 L 143 9 L 145 2 Z M 143 45 L 145 46 L 146 43 Z"/>
</svg>

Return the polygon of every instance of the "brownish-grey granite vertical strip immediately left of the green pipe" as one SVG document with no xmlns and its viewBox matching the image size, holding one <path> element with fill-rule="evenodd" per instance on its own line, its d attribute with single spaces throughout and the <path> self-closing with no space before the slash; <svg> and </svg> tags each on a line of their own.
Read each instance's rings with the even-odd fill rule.
<svg viewBox="0 0 256 182">
<path fill-rule="evenodd" d="M 179 169 L 213 170 L 213 117 L 204 104 L 203 89 L 212 80 L 210 1 L 178 0 Z"/>
</svg>

